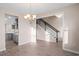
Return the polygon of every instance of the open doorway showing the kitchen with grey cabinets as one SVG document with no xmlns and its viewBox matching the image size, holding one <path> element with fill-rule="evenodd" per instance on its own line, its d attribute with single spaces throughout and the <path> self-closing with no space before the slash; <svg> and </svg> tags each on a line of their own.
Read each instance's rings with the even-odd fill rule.
<svg viewBox="0 0 79 59">
<path fill-rule="evenodd" d="M 5 14 L 6 50 L 18 45 L 18 17 Z"/>
</svg>

